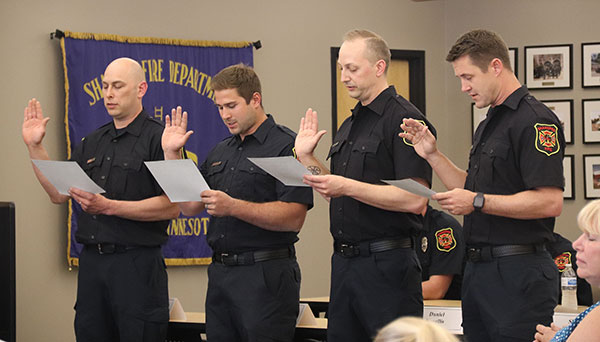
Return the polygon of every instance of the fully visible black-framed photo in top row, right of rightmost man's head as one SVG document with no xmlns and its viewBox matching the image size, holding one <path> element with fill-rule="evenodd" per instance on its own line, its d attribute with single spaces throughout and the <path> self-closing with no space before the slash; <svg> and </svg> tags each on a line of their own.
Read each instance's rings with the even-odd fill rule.
<svg viewBox="0 0 600 342">
<path fill-rule="evenodd" d="M 534 89 L 573 88 L 573 44 L 525 47 L 525 84 Z"/>
</svg>

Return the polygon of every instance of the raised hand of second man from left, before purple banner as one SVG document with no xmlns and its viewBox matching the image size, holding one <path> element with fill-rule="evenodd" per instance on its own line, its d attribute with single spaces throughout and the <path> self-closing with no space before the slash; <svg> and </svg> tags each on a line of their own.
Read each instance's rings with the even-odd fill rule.
<svg viewBox="0 0 600 342">
<path fill-rule="evenodd" d="M 165 159 L 176 159 L 181 148 L 194 133 L 187 131 L 187 112 L 181 111 L 181 106 L 177 106 L 177 109 L 171 109 L 171 117 L 165 117 L 165 130 L 161 139 Z"/>
</svg>

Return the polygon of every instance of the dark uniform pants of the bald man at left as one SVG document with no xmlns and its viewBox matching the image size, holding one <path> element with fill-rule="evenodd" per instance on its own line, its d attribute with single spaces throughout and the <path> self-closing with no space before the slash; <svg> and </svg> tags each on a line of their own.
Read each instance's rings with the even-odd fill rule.
<svg viewBox="0 0 600 342">
<path fill-rule="evenodd" d="M 169 322 L 167 272 L 160 247 L 79 258 L 78 342 L 164 342 Z"/>
</svg>

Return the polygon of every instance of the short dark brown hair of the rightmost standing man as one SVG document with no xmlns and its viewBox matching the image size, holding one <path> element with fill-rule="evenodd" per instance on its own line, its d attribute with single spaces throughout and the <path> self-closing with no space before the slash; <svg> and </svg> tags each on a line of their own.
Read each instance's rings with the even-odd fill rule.
<svg viewBox="0 0 600 342">
<path fill-rule="evenodd" d="M 492 31 L 479 29 L 463 34 L 448 52 L 446 61 L 454 62 L 462 56 L 469 56 L 473 64 L 483 72 L 487 72 L 488 65 L 494 58 L 500 59 L 506 69 L 513 71 L 506 43 Z"/>
</svg>

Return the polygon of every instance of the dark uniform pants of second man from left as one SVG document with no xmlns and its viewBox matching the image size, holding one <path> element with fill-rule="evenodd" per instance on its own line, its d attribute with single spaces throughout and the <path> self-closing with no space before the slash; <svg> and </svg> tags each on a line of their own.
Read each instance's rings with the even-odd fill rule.
<svg viewBox="0 0 600 342">
<path fill-rule="evenodd" d="M 213 342 L 293 341 L 300 300 L 295 258 L 208 267 L 206 337 Z"/>
</svg>

